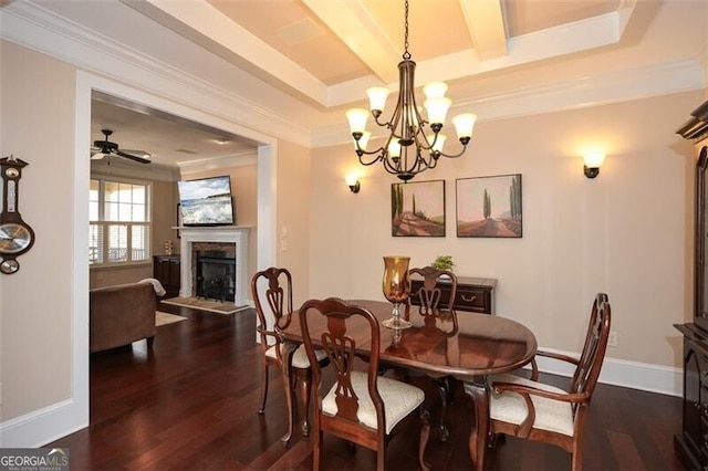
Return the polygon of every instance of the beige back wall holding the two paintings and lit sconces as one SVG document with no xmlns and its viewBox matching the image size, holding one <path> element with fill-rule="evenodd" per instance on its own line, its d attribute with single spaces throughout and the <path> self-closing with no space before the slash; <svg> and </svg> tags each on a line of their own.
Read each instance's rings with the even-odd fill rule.
<svg viewBox="0 0 708 471">
<path fill-rule="evenodd" d="M 445 238 L 392 237 L 396 179 L 381 165 L 358 165 L 348 144 L 314 150 L 311 294 L 383 300 L 383 255 L 424 265 L 451 254 L 458 274 L 499 280 L 498 314 L 528 325 L 541 346 L 579 352 L 594 294 L 604 291 L 618 333 L 610 357 L 680 366 L 671 324 L 691 310 L 685 287 L 693 283 L 686 266 L 693 145 L 674 130 L 701 96 L 482 121 L 464 157 L 416 177 L 446 181 Z M 591 180 L 580 149 L 593 144 L 606 146 L 607 158 Z M 362 174 L 358 195 L 343 180 L 352 169 Z M 517 172 L 523 238 L 457 238 L 456 179 Z"/>
</svg>

